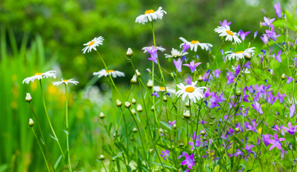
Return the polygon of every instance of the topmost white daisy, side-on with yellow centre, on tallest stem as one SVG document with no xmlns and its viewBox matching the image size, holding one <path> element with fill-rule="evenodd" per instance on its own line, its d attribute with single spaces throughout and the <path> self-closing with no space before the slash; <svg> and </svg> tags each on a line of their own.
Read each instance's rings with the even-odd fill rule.
<svg viewBox="0 0 297 172">
<path fill-rule="evenodd" d="M 163 13 L 166 13 L 166 11 L 162 10 L 162 7 L 160 6 L 157 11 L 148 10 L 143 15 L 140 15 L 136 18 L 135 23 L 147 23 L 148 20 L 156 20 L 156 19 L 162 19 Z"/>
</svg>

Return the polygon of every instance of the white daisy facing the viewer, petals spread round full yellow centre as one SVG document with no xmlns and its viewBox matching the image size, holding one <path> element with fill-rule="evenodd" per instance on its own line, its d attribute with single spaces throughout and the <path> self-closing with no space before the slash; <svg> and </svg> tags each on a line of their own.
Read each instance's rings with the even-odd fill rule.
<svg viewBox="0 0 297 172">
<path fill-rule="evenodd" d="M 203 89 L 207 89 L 206 87 L 196 87 L 196 83 L 192 82 L 191 85 L 184 85 L 182 83 L 177 84 L 176 86 L 180 88 L 176 92 L 177 97 L 180 97 L 182 95 L 182 101 L 185 101 L 185 97 L 189 97 L 190 100 L 194 101 L 196 103 L 196 99 L 199 101 L 199 99 L 203 99 Z"/>
</svg>

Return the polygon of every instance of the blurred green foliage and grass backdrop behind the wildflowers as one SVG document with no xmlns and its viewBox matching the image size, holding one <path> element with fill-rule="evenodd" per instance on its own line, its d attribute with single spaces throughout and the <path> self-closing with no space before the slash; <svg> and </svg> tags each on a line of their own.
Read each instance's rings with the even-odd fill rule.
<svg viewBox="0 0 297 172">
<path fill-rule="evenodd" d="M 221 39 L 214 32 L 219 20 L 232 21 L 231 30 L 251 31 L 245 39 L 245 45 L 252 42 L 253 34 L 258 31 L 253 45 L 262 46 L 260 21 L 264 16 L 276 18 L 271 0 L 173 0 L 173 1 L 0 1 L 1 24 L 1 59 L 0 59 L 0 171 L 45 171 L 39 147 L 33 133 L 28 128 L 29 118 L 33 118 L 25 92 L 33 97 L 33 108 L 44 127 L 47 144 L 52 150 L 54 161 L 59 157 L 59 149 L 47 135 L 50 128 L 45 118 L 41 103 L 38 82 L 23 85 L 22 81 L 37 72 L 57 70 L 60 78 L 75 78 L 80 83 L 71 87 L 69 94 L 69 130 L 71 160 L 75 165 L 81 159 L 79 171 L 100 171 L 100 164 L 95 161 L 103 153 L 105 142 L 103 128 L 98 125 L 100 111 L 107 114 L 107 121 L 119 113 L 112 109 L 110 87 L 93 78 L 93 72 L 104 68 L 98 54 L 82 54 L 83 44 L 94 37 L 103 36 L 105 41 L 98 50 L 105 59 L 108 68 L 126 73 L 125 78 L 117 78 L 122 85 L 121 92 L 126 94 L 130 86 L 133 70 L 127 63 L 126 51 L 134 51 L 136 68 L 143 73 L 151 63 L 146 60 L 142 47 L 153 44 L 151 24 L 135 23 L 137 16 L 144 11 L 158 9 L 167 12 L 163 20 L 155 20 L 156 44 L 170 54 L 174 47 L 179 49 L 179 37 L 191 41 L 207 42 L 214 45 L 214 54 L 221 44 Z M 280 1 L 281 8 L 295 13 L 290 1 Z M 296 2 L 295 2 L 296 3 Z M 231 44 L 230 44 L 231 46 Z M 246 47 L 246 46 L 245 46 Z M 224 47 L 227 50 L 230 47 Z M 197 52 L 204 66 L 209 59 L 206 51 Z M 161 63 L 167 61 L 159 56 Z M 222 59 L 219 58 L 219 62 Z M 148 78 L 148 75 L 144 75 Z M 89 82 L 91 80 L 91 82 Z M 143 79 L 146 80 L 146 79 Z M 52 124 L 60 142 L 64 139 L 64 87 L 54 87 L 53 79 L 42 80 L 45 85 L 46 102 Z M 97 87 L 86 87 L 96 85 Z M 110 101 L 105 101 L 109 99 Z M 37 131 L 37 128 L 35 128 Z M 38 134 L 38 132 L 37 132 Z M 66 147 L 65 144 L 62 144 Z"/>
</svg>

